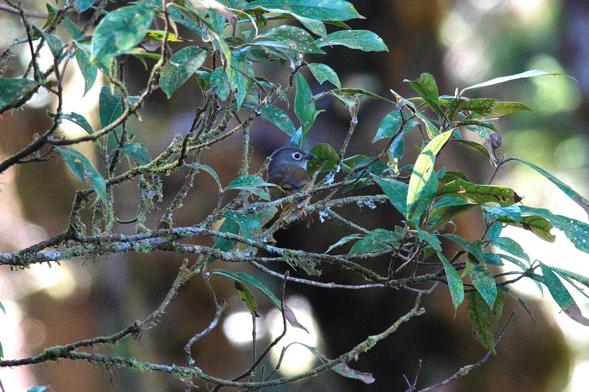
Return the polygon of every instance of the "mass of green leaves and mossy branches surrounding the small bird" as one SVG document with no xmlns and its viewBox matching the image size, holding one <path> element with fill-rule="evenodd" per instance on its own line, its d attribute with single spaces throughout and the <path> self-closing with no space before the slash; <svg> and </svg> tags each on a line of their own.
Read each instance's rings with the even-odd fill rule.
<svg viewBox="0 0 589 392">
<path fill-rule="evenodd" d="M 561 281 L 562 279 L 572 284 L 585 294 L 583 287 L 577 283 L 589 286 L 589 279 L 548 266 L 539 260 L 531 260 L 517 242 L 501 236 L 502 228 L 510 225 L 530 230 L 540 239 L 554 242 L 555 237 L 551 230 L 556 228 L 562 230 L 578 249 L 589 252 L 589 225 L 554 215 L 545 209 L 524 206 L 521 203 L 522 197 L 509 187 L 491 185 L 492 181 L 488 185 L 472 183 L 464 173 L 446 170 L 444 167 L 435 170 L 436 157 L 443 152 L 445 146 L 448 143 L 462 143 L 481 152 L 485 159 L 497 166 L 497 171 L 510 160 L 525 163 L 555 183 L 589 213 L 589 202 L 584 197 L 540 167 L 517 158 L 497 158 L 496 150 L 501 145 L 501 137 L 492 120 L 520 110 L 530 110 L 528 106 L 491 98 L 469 99 L 464 95 L 471 89 L 517 78 L 554 74 L 528 71 L 479 83 L 462 89 L 461 92 L 456 90 L 454 95 L 440 95 L 433 76 L 422 73 L 415 81 L 406 81 L 418 96 L 403 98 L 391 91 L 391 99 L 387 99 L 363 89 L 345 88 L 332 68 L 323 63 L 305 61 L 307 54 L 324 54 L 324 49 L 335 45 L 362 51 L 388 50 L 375 33 L 352 30 L 345 24 L 348 19 L 358 18 L 360 15 L 352 4 L 343 0 L 139 0 L 110 12 L 103 11 L 106 1 L 98 1 L 96 6 L 94 3 L 91 0 L 68 1 L 63 8 L 47 4 L 46 24 L 42 28 L 31 24 L 28 39 L 21 43 L 37 41 L 39 47 L 47 43 L 54 56 L 54 65 L 47 71 L 38 69 L 37 55 L 33 52 L 31 66 L 23 78 L 0 78 L 0 113 L 24 105 L 40 86 L 55 93 L 60 102 L 56 113 L 48 113 L 54 121 L 51 130 L 15 156 L 0 163 L 0 172 L 16 163 L 41 161 L 45 156 L 56 152 L 90 188 L 78 192 L 69 228 L 62 236 L 32 247 L 34 251 L 29 248 L 26 253 L 0 255 L 1 263 L 10 264 L 16 256 L 24 261 L 22 264 L 11 265 L 27 266 L 31 262 L 47 261 L 41 257 L 42 249 L 47 246 L 59 246 L 62 253 L 59 253 L 61 256 L 55 256 L 57 259 L 54 260 L 57 261 L 72 257 L 73 253 L 66 251 L 73 249 L 74 245 L 77 246 L 74 256 L 92 252 L 104 254 L 100 253 L 104 249 L 95 244 L 104 244 L 108 240 L 111 240 L 111 249 L 114 249 L 110 252 L 127 252 L 128 247 L 121 250 L 123 248 L 117 248 L 115 243 L 125 240 L 136 242 L 134 250 L 180 252 L 178 247 L 173 247 L 178 240 L 206 234 L 215 237 L 215 244 L 211 248 L 197 248 L 196 253 L 207 256 L 198 259 L 198 269 L 206 269 L 208 264 L 217 259 L 251 262 L 259 250 L 266 250 L 279 254 L 277 261 L 287 262 L 293 267 L 300 266 L 312 275 L 320 274 L 316 265 L 326 261 L 355 270 L 375 284 L 383 286 L 401 287 L 428 281 L 445 283 L 456 309 L 464 301 L 465 293 L 468 294 L 469 319 L 473 322 L 475 338 L 492 352 L 495 352 L 492 327 L 501 318 L 505 296 L 514 298 L 525 307 L 524 301 L 509 293 L 507 287 L 522 278 L 534 280 L 541 290 L 542 285 L 547 287 L 565 313 L 574 320 L 589 325 L 589 320 L 581 315 L 573 297 Z M 71 12 L 85 11 L 94 12 L 97 18 L 101 18 L 91 34 L 88 33 L 90 25 L 82 29 L 69 18 Z M 284 20 L 302 27 L 274 22 L 282 23 Z M 23 18 L 23 23 L 29 25 L 26 18 Z M 57 26 L 62 23 L 70 34 L 70 42 L 67 44 L 54 34 Z M 163 30 L 152 29 L 161 23 L 165 26 Z M 327 33 L 326 24 L 341 29 Z M 180 38 L 178 25 L 184 26 L 187 32 L 200 39 L 202 45 L 185 46 L 181 43 L 187 40 Z M 226 33 L 229 35 L 226 36 Z M 168 56 L 168 48 L 174 51 L 173 55 Z M 6 49 L 5 54 L 10 54 L 10 51 L 11 48 Z M 133 96 L 127 91 L 122 71 L 124 62 L 121 67 L 117 63 L 120 56 L 134 56 L 147 69 L 151 66 L 147 88 L 141 95 Z M 3 54 L 2 59 L 5 57 L 9 58 L 9 55 Z M 84 94 L 94 85 L 98 72 L 108 80 L 108 85 L 102 86 L 100 92 L 100 130 L 92 129 L 83 116 L 63 113 L 61 110 L 61 81 L 68 62 L 74 57 L 85 79 Z M 257 62 L 290 66 L 289 81 L 281 85 L 279 81 L 258 76 Z M 8 61 L 3 71 L 7 66 Z M 32 70 L 32 75 L 29 75 L 29 69 Z M 329 82 L 335 88 L 313 95 L 307 81 L 309 78 L 305 78 L 302 73 L 305 69 L 310 71 L 310 75 L 320 85 Z M 51 74 L 56 76 L 57 82 L 49 79 Z M 144 145 L 133 142 L 133 135 L 127 133 L 126 121 L 131 115 L 137 114 L 154 88 L 161 88 L 169 98 L 193 76 L 203 93 L 204 106 L 197 110 L 193 126 L 187 130 L 186 135 L 174 139 L 168 149 L 152 159 Z M 293 88 L 295 93 L 292 103 L 298 128 L 285 111 L 290 108 L 292 97 L 289 98 L 287 94 Z M 375 185 L 373 189 L 378 190 L 376 195 L 339 200 L 343 200 L 341 203 L 352 200 L 351 202 L 358 202 L 360 205 L 366 203 L 371 206 L 375 201 L 388 200 L 399 211 L 403 220 L 391 230 L 379 228 L 369 231 L 340 217 L 350 227 L 360 230 L 340 239 L 325 254 L 269 246 L 265 240 L 274 231 L 284 227 L 287 219 L 300 219 L 302 213 L 293 209 L 270 228 L 266 227 L 276 212 L 276 205 L 294 202 L 295 199 L 294 196 L 287 196 L 270 201 L 267 187 L 274 185 L 265 182 L 261 172 L 249 173 L 249 139 L 245 135 L 253 120 L 262 116 L 289 135 L 293 145 L 305 148 L 316 116 L 323 112 L 316 109 L 316 102 L 327 97 L 335 98 L 349 108 L 352 116 L 350 131 L 339 152 L 325 143 L 315 145 L 310 150 L 317 158 L 309 162 L 309 174 L 314 177 L 314 181 L 321 173 L 327 174 L 304 190 L 303 196 L 316 196 L 322 192 L 337 190 L 353 192 L 359 187 Z M 373 140 L 377 142 L 385 139 L 387 144 L 378 156 L 346 157 L 346 147 L 357 122 L 361 97 L 378 99 L 392 106 L 392 111 L 380 123 Z M 236 128 L 227 131 L 230 120 L 239 110 L 247 112 L 247 117 Z M 78 139 L 55 137 L 55 130 L 64 119 L 76 123 L 88 135 Z M 214 146 L 239 131 L 243 131 L 246 140 L 243 167 L 240 176 L 223 187 L 214 169 L 200 162 L 200 153 L 204 148 Z M 416 146 L 420 153 L 415 162 L 401 166 L 405 150 L 404 138 L 409 132 L 419 132 L 423 142 Z M 476 133 L 481 142 L 465 140 L 462 132 Z M 96 142 L 95 147 L 102 158 L 99 167 L 77 150 L 68 147 L 87 140 Z M 47 153 L 41 155 L 42 148 L 48 148 Z M 122 155 L 129 158 L 128 167 L 124 170 L 121 170 L 124 166 Z M 190 168 L 183 192 L 178 193 L 157 227 L 144 226 L 145 215 L 153 208 L 154 197 L 159 196 L 161 200 L 164 191 L 161 189 L 159 176 L 183 167 Z M 196 233 L 192 228 L 166 232 L 165 230 L 174 227 L 173 214 L 181 207 L 182 199 L 199 171 L 212 176 L 219 188 L 217 208 L 211 211 L 206 220 L 196 225 L 201 232 Z M 337 182 L 336 176 L 339 176 Z M 115 222 L 112 190 L 115 186 L 134 179 L 138 179 L 141 190 L 137 216 L 132 221 L 137 222 L 138 234 L 133 239 L 121 240 L 121 236 L 112 234 Z M 239 192 L 237 196 L 223 204 L 223 197 L 233 190 Z M 90 233 L 86 233 L 85 225 L 78 215 L 92 193 L 95 193 L 100 203 L 94 207 L 92 227 L 88 230 Z M 318 197 L 309 210 L 320 216 L 329 215 L 332 211 L 327 203 L 332 196 L 333 193 Z M 253 203 L 256 199 L 257 202 Z M 486 230 L 481 233 L 479 240 L 471 242 L 452 233 L 451 228 L 456 217 L 475 209 L 482 210 Z M 222 223 L 217 226 L 217 230 L 213 230 L 216 222 Z M 146 233 L 151 233 L 153 238 L 168 236 L 168 242 L 141 247 L 140 241 L 150 238 L 140 235 Z M 442 241 L 447 243 L 446 240 L 460 247 L 459 252 L 449 258 L 444 255 L 447 252 L 442 244 Z M 351 245 L 347 254 L 329 254 L 346 243 Z M 388 276 L 380 276 L 359 263 L 352 262 L 354 259 L 362 260 L 381 254 L 391 255 Z M 463 256 L 464 259 L 461 259 Z M 422 279 L 417 279 L 418 267 L 429 257 L 436 257 L 442 269 L 436 274 L 423 275 Z M 501 280 L 507 274 L 493 274 L 492 268 L 489 269 L 489 266 L 504 266 L 505 262 L 514 264 L 521 270 L 507 273 L 516 276 L 515 279 Z M 398 278 L 408 272 L 405 270 L 407 266 L 412 266 L 408 276 L 415 280 L 401 281 Z M 233 282 L 247 309 L 254 316 L 257 316 L 257 302 L 252 288 L 282 310 L 285 319 L 292 326 L 305 329 L 298 323 L 292 310 L 255 277 L 224 269 L 210 270 L 206 274 L 207 279 L 212 275 Z M 470 283 L 463 282 L 467 276 Z M 286 282 L 286 277 L 284 279 Z M 306 282 L 317 283 L 310 280 Z M 309 349 L 327 361 L 314 348 Z M 371 376 L 349 368 L 344 362 L 334 364 L 332 368 L 346 377 L 359 378 L 365 382 L 373 381 Z"/>
</svg>

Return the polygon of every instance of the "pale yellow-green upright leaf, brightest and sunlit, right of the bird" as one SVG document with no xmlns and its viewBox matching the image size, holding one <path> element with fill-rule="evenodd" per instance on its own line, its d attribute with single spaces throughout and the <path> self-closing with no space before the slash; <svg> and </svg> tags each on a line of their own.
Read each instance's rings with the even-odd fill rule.
<svg viewBox="0 0 589 392">
<path fill-rule="evenodd" d="M 436 136 L 419 154 L 415 161 L 415 167 L 409 179 L 409 190 L 407 194 L 407 210 L 408 219 L 413 220 L 416 216 L 413 215 L 415 205 L 419 198 L 423 196 L 423 190 L 429 182 L 429 178 L 434 172 L 434 162 L 438 152 L 444 147 L 445 143 L 452 136 L 454 129 Z"/>
</svg>

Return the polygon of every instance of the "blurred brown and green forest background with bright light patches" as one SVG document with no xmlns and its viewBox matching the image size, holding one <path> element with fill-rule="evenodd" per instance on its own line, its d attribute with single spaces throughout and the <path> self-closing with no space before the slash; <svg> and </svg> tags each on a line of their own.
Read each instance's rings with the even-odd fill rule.
<svg viewBox="0 0 589 392">
<path fill-rule="evenodd" d="M 63 1 L 59 0 L 62 5 Z M 112 2 L 116 8 L 124 2 Z M 403 79 L 416 79 L 422 72 L 436 78 L 441 94 L 453 94 L 477 82 L 528 69 L 542 69 L 573 76 L 578 83 L 558 76 L 522 79 L 485 89 L 477 89 L 469 98 L 496 98 L 527 103 L 534 112 L 515 113 L 499 119 L 497 128 L 503 138 L 498 154 L 526 159 L 560 178 L 584 196 L 589 196 L 587 177 L 589 123 L 589 3 L 585 0 L 422 0 L 419 2 L 388 0 L 355 0 L 353 4 L 366 20 L 349 21 L 354 29 L 378 33 L 389 52 L 361 52 L 343 46 L 326 48 L 327 56 L 310 55 L 309 62 L 325 62 L 348 88 L 364 88 L 392 98 L 389 89 L 405 97 L 414 96 Z M 27 9 L 46 12 L 45 2 L 25 0 Z M 87 14 L 73 16 L 84 22 Z M 42 25 L 37 21 L 37 25 Z M 329 28 L 329 26 L 328 26 Z M 197 39 L 181 30 L 181 36 Z M 67 32 L 57 35 L 67 40 Z M 16 15 L 0 11 L 0 50 L 15 38 L 23 38 L 24 29 Z M 176 50 L 182 45 L 174 46 Z M 30 55 L 25 45 L 15 48 L 16 58 L 4 77 L 20 77 Z M 41 65 L 51 63 L 48 49 L 42 50 Z M 74 62 L 65 86 L 64 112 L 84 115 L 98 129 L 98 93 L 104 84 L 98 79 L 82 98 L 84 81 Z M 270 76 L 286 83 L 290 69 L 272 64 L 257 68 L 256 75 Z M 125 69 L 132 94 L 140 93 L 145 82 L 143 65 L 130 58 Z M 314 93 L 329 89 L 317 85 L 307 71 Z M 290 97 L 292 99 L 292 96 Z M 165 149 L 176 133 L 190 128 L 194 110 L 201 102 L 193 79 L 168 100 L 155 92 L 141 110 L 143 122 L 133 119 L 128 129 L 145 143 L 151 156 Z M 46 110 L 54 111 L 56 102 L 49 93 L 40 91 L 27 104 L 26 110 L 5 113 L 0 119 L 0 158 L 6 158 L 27 145 L 34 133 L 44 132 L 50 124 Z M 327 142 L 339 149 L 348 130 L 349 113 L 339 103 L 323 99 L 318 109 L 326 109 L 315 122 L 307 148 Z M 286 110 L 286 106 L 283 107 Z M 292 106 L 291 109 L 292 110 Z M 382 118 L 392 105 L 363 99 L 359 124 L 348 154 L 375 155 L 385 140 L 372 144 Z M 292 111 L 289 113 L 293 116 Z M 64 135 L 74 137 L 84 132 L 72 123 L 61 126 Z M 464 130 L 464 137 L 475 140 L 474 133 Z M 286 145 L 288 137 L 264 119 L 252 128 L 254 158 L 257 170 L 274 149 Z M 204 153 L 201 163 L 213 167 L 223 185 L 239 174 L 241 149 L 239 135 L 225 140 L 223 148 Z M 418 151 L 412 146 L 418 139 L 405 140 L 405 161 L 412 163 Z M 421 143 L 421 142 L 420 142 Z M 77 146 L 93 162 L 98 157 L 91 143 Z M 472 182 L 486 182 L 493 167 L 478 152 L 467 146 L 451 145 L 436 162 L 436 167 L 461 170 Z M 236 159 L 231 159 L 234 156 Z M 164 178 L 164 199 L 157 203 L 165 209 L 183 185 L 187 171 Z M 560 190 L 527 166 L 509 162 L 495 183 L 510 186 L 525 195 L 524 204 L 544 207 L 552 212 L 587 222 L 587 215 Z M 14 252 L 37 243 L 67 228 L 75 189 L 82 186 L 64 163 L 52 159 L 45 163 L 13 166 L 0 175 L 0 252 Z M 375 192 L 365 188 L 362 192 Z M 200 222 L 216 205 L 216 185 L 206 173 L 196 178 L 184 208 L 176 217 L 177 226 Z M 115 190 L 115 213 L 130 219 L 137 208 L 138 190 L 125 185 Z M 374 229 L 392 229 L 401 216 L 391 206 L 349 206 L 337 210 L 356 223 Z M 155 211 L 148 227 L 154 227 Z M 86 216 L 88 218 L 88 216 Z M 459 234 L 474 240 L 482 233 L 480 212 L 460 219 Z M 151 226 L 150 226 L 151 225 Z M 131 234 L 133 225 L 115 225 L 115 232 Z M 333 220 L 320 222 L 315 217 L 309 229 L 297 222 L 275 237 L 279 246 L 325 252 L 330 244 L 351 232 Z M 557 234 L 555 244 L 542 242 L 530 232 L 509 227 L 504 235 L 522 244 L 532 259 L 588 276 L 589 255 L 568 243 L 564 234 Z M 207 244 L 210 239 L 205 240 Z M 451 247 L 451 244 L 448 244 Z M 347 249 L 343 249 L 347 252 Z M 144 319 L 160 304 L 176 276 L 183 257 L 158 252 L 130 253 L 106 258 L 74 259 L 52 264 L 33 265 L 27 270 L 0 269 L 0 301 L 6 314 L 0 313 L 0 341 L 4 358 L 15 359 L 37 355 L 45 347 L 68 344 L 94 336 L 111 335 L 136 319 Z M 367 263 L 377 271 L 386 269 L 386 260 Z M 280 281 L 267 277 L 251 266 L 226 265 L 215 267 L 252 273 L 274 293 Z M 283 272 L 282 265 L 268 267 Z M 327 265 L 319 279 L 322 282 L 362 283 L 357 277 Z M 505 266 L 505 270 L 513 270 Z M 428 270 L 423 270 L 426 272 Z M 305 276 L 294 272 L 294 276 Z M 499 272 L 499 270 L 497 270 Z M 237 296 L 233 284 L 213 277 L 217 297 L 229 301 L 220 327 L 199 340 L 192 349 L 196 365 L 206 373 L 230 378 L 249 366 L 252 358 L 251 317 Z M 439 391 L 587 391 L 589 385 L 589 328 L 568 319 L 544 290 L 544 299 L 531 282 L 511 285 L 513 293 L 522 297 L 538 320 L 537 328 L 527 313 L 507 299 L 503 326 L 512 309 L 518 307 L 512 324 L 498 344 L 497 357 L 492 357 L 467 377 L 453 381 Z M 573 293 L 575 296 L 575 293 Z M 260 319 L 257 324 L 259 347 L 268 343 L 282 329 L 280 313 L 259 296 Z M 290 331 L 286 340 L 302 341 L 316 346 L 322 353 L 335 358 L 370 334 L 380 333 L 413 306 L 414 295 L 403 290 L 318 289 L 301 284 L 287 284 L 286 301 L 310 334 Z M 575 296 L 585 316 L 588 301 Z M 423 366 L 418 388 L 430 386 L 451 376 L 462 366 L 481 359 L 485 350 L 472 338 L 471 323 L 466 319 L 466 304 L 454 316 L 445 286 L 426 296 L 422 304 L 426 313 L 403 324 L 388 339 L 367 354 L 362 354 L 352 367 L 373 374 L 373 384 L 340 377 L 326 371 L 319 377 L 275 389 L 281 391 L 403 391 L 403 374 L 412 380 L 418 360 Z M 98 347 L 95 352 L 136 357 L 138 360 L 184 364 L 182 347 L 198 331 L 209 325 L 214 315 L 213 303 L 200 277 L 180 289 L 157 328 L 146 330 L 139 340 L 127 339 L 117 347 Z M 279 344 L 279 349 L 283 344 Z M 94 351 L 90 349 L 90 351 Z M 279 352 L 272 353 L 264 363 L 268 369 L 276 363 Z M 302 346 L 293 346 L 286 353 L 283 375 L 317 366 Z M 266 372 L 267 373 L 267 372 Z M 101 369 L 82 361 L 62 360 L 43 365 L 0 370 L 0 379 L 7 392 L 24 391 L 34 385 L 50 384 L 55 391 L 176 391 L 183 384 L 167 374 L 133 370 Z M 226 388 L 230 390 L 230 388 Z"/>
</svg>

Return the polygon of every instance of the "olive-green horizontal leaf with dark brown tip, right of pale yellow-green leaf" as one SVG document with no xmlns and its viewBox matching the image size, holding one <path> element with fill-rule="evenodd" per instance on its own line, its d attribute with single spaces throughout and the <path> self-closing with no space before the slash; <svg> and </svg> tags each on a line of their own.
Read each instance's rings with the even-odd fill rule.
<svg viewBox="0 0 589 392">
<path fill-rule="evenodd" d="M 502 207 L 511 206 L 522 199 L 507 186 L 477 185 L 459 179 L 442 186 L 438 196 L 458 196 L 472 204 L 492 202 Z"/>
</svg>

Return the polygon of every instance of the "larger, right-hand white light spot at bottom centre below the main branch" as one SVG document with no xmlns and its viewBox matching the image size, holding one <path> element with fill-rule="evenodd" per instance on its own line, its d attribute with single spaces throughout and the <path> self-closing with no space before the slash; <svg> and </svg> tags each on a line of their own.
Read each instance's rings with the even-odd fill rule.
<svg viewBox="0 0 589 392">
<path fill-rule="evenodd" d="M 293 310 L 299 323 L 303 324 L 309 330 L 307 334 L 299 328 L 290 326 L 287 322 L 286 336 L 280 340 L 279 344 L 273 347 L 270 351 L 270 358 L 273 363 L 277 363 L 280 358 L 282 348 L 293 342 L 307 344 L 307 346 L 316 347 L 319 341 L 317 337 L 317 325 L 312 315 L 312 307 L 304 297 L 295 296 L 286 300 L 286 304 Z M 284 325 L 282 313 L 279 310 L 272 310 L 267 317 L 270 326 L 270 334 L 272 339 L 282 334 Z M 315 355 L 309 351 L 305 346 L 300 344 L 292 344 L 284 353 L 280 372 L 284 376 L 294 376 L 302 373 L 313 367 L 315 363 Z"/>
</svg>

